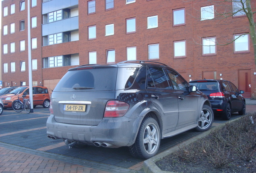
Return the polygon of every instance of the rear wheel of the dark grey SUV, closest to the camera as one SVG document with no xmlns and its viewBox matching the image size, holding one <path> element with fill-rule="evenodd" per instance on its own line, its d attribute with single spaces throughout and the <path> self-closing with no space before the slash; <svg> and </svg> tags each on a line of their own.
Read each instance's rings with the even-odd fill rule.
<svg viewBox="0 0 256 173">
<path fill-rule="evenodd" d="M 129 147 L 133 157 L 149 159 L 157 154 L 160 145 L 160 129 L 151 117 L 143 119 L 135 143 Z"/>
</svg>

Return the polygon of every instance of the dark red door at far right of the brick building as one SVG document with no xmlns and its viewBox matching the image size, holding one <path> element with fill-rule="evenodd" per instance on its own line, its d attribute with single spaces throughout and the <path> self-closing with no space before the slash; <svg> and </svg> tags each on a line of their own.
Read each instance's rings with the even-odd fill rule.
<svg viewBox="0 0 256 173">
<path fill-rule="evenodd" d="M 238 70 L 238 89 L 244 91 L 244 98 L 251 98 L 251 70 Z"/>
</svg>

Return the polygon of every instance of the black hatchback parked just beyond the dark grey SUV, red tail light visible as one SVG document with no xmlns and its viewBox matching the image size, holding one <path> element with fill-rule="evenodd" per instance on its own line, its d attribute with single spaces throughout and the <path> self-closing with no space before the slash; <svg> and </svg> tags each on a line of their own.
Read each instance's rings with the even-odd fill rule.
<svg viewBox="0 0 256 173">
<path fill-rule="evenodd" d="M 246 101 L 232 82 L 227 80 L 192 80 L 191 85 L 198 87 L 209 98 L 213 112 L 220 114 L 223 120 L 229 120 L 231 113 L 246 113 Z"/>
</svg>

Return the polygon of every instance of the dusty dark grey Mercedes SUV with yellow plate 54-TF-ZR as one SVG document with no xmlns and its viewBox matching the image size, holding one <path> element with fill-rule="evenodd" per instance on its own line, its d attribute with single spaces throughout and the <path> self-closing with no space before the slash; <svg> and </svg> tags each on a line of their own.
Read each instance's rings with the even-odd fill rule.
<svg viewBox="0 0 256 173">
<path fill-rule="evenodd" d="M 214 118 L 206 95 L 172 68 L 150 61 L 71 68 L 50 104 L 47 137 L 69 147 L 127 146 L 145 159 L 157 153 L 160 139 L 206 131 Z"/>
</svg>

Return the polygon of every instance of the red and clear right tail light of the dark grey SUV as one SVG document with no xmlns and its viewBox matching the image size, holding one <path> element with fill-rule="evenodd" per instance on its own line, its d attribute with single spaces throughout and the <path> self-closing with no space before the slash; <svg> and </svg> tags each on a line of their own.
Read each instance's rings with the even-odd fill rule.
<svg viewBox="0 0 256 173">
<path fill-rule="evenodd" d="M 129 109 L 129 104 L 122 101 L 108 101 L 104 117 L 122 117 Z"/>
</svg>

